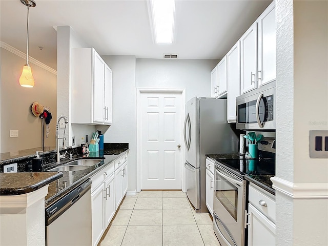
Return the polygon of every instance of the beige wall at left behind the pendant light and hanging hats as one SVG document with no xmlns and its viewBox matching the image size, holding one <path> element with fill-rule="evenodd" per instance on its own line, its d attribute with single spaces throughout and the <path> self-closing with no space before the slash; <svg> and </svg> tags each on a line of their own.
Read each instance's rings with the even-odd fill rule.
<svg viewBox="0 0 328 246">
<path fill-rule="evenodd" d="M 0 153 L 17 153 L 19 150 L 42 147 L 42 122 L 44 122 L 45 147 L 55 146 L 55 120 L 49 124 L 50 132 L 46 137 L 44 119 L 32 114 L 34 101 L 46 107 L 55 116 L 56 71 L 30 57 L 29 63 L 35 79 L 33 88 L 21 87 L 18 83 L 26 59 L 24 53 L 8 44 L 1 43 L 1 141 L 6 143 Z M 23 57 L 22 57 L 23 56 Z M 34 63 L 35 61 L 35 63 Z M 18 137 L 10 137 L 10 130 L 18 130 Z"/>
</svg>

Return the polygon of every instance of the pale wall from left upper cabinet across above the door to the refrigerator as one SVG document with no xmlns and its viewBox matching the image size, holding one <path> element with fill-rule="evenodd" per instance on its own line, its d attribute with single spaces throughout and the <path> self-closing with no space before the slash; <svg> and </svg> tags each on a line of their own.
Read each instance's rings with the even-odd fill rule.
<svg viewBox="0 0 328 246">
<path fill-rule="evenodd" d="M 211 95 L 211 71 L 218 60 L 136 59 L 102 56 L 113 72 L 113 123 L 105 142 L 129 143 L 128 191 L 136 191 L 136 87 L 186 88 L 188 99 Z"/>
</svg>

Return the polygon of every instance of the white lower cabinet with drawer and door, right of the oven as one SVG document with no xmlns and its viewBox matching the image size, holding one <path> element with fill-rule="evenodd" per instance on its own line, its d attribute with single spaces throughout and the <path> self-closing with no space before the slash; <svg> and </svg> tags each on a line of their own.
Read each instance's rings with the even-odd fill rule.
<svg viewBox="0 0 328 246">
<path fill-rule="evenodd" d="M 248 245 L 276 245 L 275 197 L 259 187 L 249 186 Z"/>
</svg>

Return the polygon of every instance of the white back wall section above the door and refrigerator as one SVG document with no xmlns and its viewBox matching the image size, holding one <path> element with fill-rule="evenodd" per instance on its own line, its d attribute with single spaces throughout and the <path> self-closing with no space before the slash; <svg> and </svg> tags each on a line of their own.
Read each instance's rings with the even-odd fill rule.
<svg viewBox="0 0 328 246">
<path fill-rule="evenodd" d="M 136 86 L 186 88 L 186 100 L 211 96 L 211 71 L 218 60 L 137 59 Z"/>
</svg>

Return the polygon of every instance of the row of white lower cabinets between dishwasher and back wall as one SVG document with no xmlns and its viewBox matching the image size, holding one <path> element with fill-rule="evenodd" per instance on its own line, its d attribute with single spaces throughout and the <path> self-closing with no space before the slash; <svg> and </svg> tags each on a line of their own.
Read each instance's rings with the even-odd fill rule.
<svg viewBox="0 0 328 246">
<path fill-rule="evenodd" d="M 121 165 L 122 160 L 124 162 Z M 128 190 L 127 164 L 125 154 L 91 177 L 93 246 L 99 243 Z"/>
</svg>

